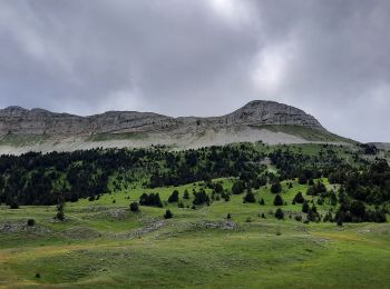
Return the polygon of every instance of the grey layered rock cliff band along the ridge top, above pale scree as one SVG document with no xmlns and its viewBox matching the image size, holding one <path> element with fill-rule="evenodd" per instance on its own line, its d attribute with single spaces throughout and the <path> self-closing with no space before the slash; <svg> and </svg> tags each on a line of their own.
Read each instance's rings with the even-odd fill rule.
<svg viewBox="0 0 390 289">
<path fill-rule="evenodd" d="M 0 110 L 0 134 L 18 136 L 91 136 L 158 131 L 185 134 L 204 129 L 262 124 L 293 124 L 324 130 L 315 118 L 300 109 L 261 100 L 252 101 L 230 114 L 213 118 L 170 118 L 135 111 L 109 111 L 79 117 L 42 109 L 27 110 L 20 107 Z"/>
</svg>

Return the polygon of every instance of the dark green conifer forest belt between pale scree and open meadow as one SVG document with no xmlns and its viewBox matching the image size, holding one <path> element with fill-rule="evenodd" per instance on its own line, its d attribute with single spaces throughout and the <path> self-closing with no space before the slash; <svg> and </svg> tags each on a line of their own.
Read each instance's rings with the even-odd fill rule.
<svg viewBox="0 0 390 289">
<path fill-rule="evenodd" d="M 331 197 L 330 192 L 315 191 L 313 180 L 329 178 L 339 186 L 332 195 L 338 193 L 343 200 L 338 211 L 340 221 L 383 221 L 390 201 L 390 168 L 386 161 L 370 162 L 360 153 L 360 150 L 330 144 L 269 147 L 240 143 L 187 151 L 155 147 L 2 156 L 0 201 L 11 208 L 56 205 L 62 199 L 72 202 L 80 198 L 95 200 L 137 183 L 153 189 L 195 181 L 208 183 L 222 177 L 238 178 L 241 189 L 237 191 L 246 190 L 248 202 L 253 200 L 253 188 L 274 187 L 280 181 L 294 179 L 313 187 L 314 193 L 310 195 L 325 199 Z M 271 166 L 266 165 L 267 160 Z M 233 188 L 232 193 L 235 190 Z M 220 198 L 228 199 L 230 193 Z M 197 198 L 198 203 L 194 205 L 208 202 L 208 196 L 198 195 Z M 147 203 L 146 197 L 144 199 Z M 367 206 L 377 208 L 371 210 Z M 158 207 L 162 206 L 158 203 Z"/>
</svg>

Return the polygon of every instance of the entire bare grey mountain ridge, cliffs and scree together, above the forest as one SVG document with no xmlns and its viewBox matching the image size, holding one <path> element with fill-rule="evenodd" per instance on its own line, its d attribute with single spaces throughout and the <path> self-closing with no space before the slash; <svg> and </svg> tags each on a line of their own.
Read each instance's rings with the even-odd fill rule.
<svg viewBox="0 0 390 289">
<path fill-rule="evenodd" d="M 79 117 L 20 107 L 0 110 L 0 153 L 156 144 L 188 149 L 260 140 L 270 144 L 352 142 L 326 131 L 304 111 L 274 101 L 252 101 L 211 118 L 135 111 Z"/>
</svg>

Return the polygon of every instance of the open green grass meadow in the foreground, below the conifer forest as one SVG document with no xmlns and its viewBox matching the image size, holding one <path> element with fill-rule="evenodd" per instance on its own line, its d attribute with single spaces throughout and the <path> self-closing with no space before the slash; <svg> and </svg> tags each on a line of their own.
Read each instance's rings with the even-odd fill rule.
<svg viewBox="0 0 390 289">
<path fill-rule="evenodd" d="M 232 188 L 232 179 L 214 181 Z M 284 220 L 273 216 L 270 187 L 254 191 L 264 206 L 238 195 L 196 210 L 177 203 L 129 210 L 143 192 L 165 201 L 174 189 L 191 207 L 183 192 L 193 197 L 201 186 L 136 187 L 67 203 L 64 222 L 53 220 L 55 207 L 0 207 L 0 288 L 389 288 L 389 223 L 295 221 L 301 205 L 292 199 L 306 190 L 298 182 L 283 183 Z M 330 205 L 318 208 L 324 215 Z M 166 209 L 173 219 L 163 218 Z"/>
</svg>

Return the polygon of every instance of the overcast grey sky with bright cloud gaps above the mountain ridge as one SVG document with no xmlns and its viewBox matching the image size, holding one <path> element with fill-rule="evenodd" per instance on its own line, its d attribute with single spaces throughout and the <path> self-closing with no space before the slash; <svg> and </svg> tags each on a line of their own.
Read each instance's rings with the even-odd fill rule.
<svg viewBox="0 0 390 289">
<path fill-rule="evenodd" d="M 1 0 L 0 108 L 222 116 L 255 99 L 390 142 L 388 0 Z"/>
</svg>

